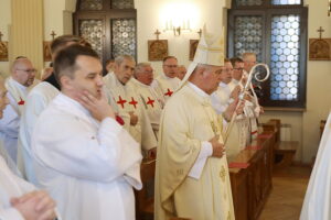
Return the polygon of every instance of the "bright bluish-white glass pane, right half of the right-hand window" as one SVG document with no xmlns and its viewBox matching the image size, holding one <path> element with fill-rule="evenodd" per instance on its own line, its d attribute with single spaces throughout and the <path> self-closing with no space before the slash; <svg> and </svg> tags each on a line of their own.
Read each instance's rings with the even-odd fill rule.
<svg viewBox="0 0 331 220">
<path fill-rule="evenodd" d="M 271 100 L 297 100 L 299 87 L 299 15 L 271 20 Z"/>
</svg>

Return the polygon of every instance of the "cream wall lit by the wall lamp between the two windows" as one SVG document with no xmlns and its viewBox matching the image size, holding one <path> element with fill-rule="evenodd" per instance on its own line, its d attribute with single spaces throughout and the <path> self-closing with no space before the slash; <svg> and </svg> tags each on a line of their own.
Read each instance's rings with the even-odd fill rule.
<svg viewBox="0 0 331 220">
<path fill-rule="evenodd" d="M 174 36 L 172 32 L 163 32 L 163 10 L 172 4 L 186 3 L 196 9 L 194 16 L 196 21 L 191 22 L 191 33 L 182 33 Z M 207 25 L 210 32 L 221 32 L 223 26 L 224 0 L 136 0 L 135 6 L 138 12 L 138 62 L 148 62 L 148 40 L 156 40 L 153 34 L 157 29 L 162 33 L 161 40 L 168 40 L 169 55 L 178 57 L 179 64 L 189 65 L 189 42 L 197 40 L 199 29 Z M 182 11 L 188 13 L 188 11 Z M 156 73 L 162 72 L 162 62 L 151 62 Z"/>
</svg>

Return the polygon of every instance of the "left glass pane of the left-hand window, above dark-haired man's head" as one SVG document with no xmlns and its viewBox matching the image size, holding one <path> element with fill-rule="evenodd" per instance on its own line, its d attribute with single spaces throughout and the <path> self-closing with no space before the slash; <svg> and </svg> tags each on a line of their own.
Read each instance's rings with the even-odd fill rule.
<svg viewBox="0 0 331 220">
<path fill-rule="evenodd" d="M 103 58 L 103 20 L 81 20 L 79 35 L 90 43 L 92 47 Z"/>
</svg>

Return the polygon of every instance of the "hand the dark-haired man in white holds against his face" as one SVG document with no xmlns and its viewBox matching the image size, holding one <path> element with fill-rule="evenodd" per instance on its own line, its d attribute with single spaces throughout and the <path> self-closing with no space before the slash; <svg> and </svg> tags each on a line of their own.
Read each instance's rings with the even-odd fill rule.
<svg viewBox="0 0 331 220">
<path fill-rule="evenodd" d="M 98 121 L 103 121 L 107 117 L 115 119 L 115 113 L 109 106 L 104 91 L 102 91 L 100 99 L 97 99 L 90 92 L 85 90 L 79 96 L 78 101 L 90 112 L 93 118 Z"/>
</svg>

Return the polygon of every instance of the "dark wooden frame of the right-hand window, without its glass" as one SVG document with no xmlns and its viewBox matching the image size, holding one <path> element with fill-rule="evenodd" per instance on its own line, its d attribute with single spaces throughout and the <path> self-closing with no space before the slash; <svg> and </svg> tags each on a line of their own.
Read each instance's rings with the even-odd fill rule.
<svg viewBox="0 0 331 220">
<path fill-rule="evenodd" d="M 273 15 L 300 15 L 300 42 L 299 42 L 299 79 L 298 79 L 298 100 L 271 100 L 270 99 L 270 77 L 261 84 L 263 98 L 259 100 L 265 107 L 282 108 L 306 108 L 307 89 L 307 41 L 308 41 L 308 8 L 300 4 L 274 6 L 271 0 L 265 0 L 263 6 L 236 7 L 235 0 L 232 1 L 232 9 L 227 10 L 227 57 L 235 55 L 234 50 L 234 28 L 235 16 L 238 15 L 261 15 L 263 16 L 263 63 L 270 66 L 271 52 L 271 19 Z M 271 73 L 270 73 L 271 74 Z"/>
</svg>

